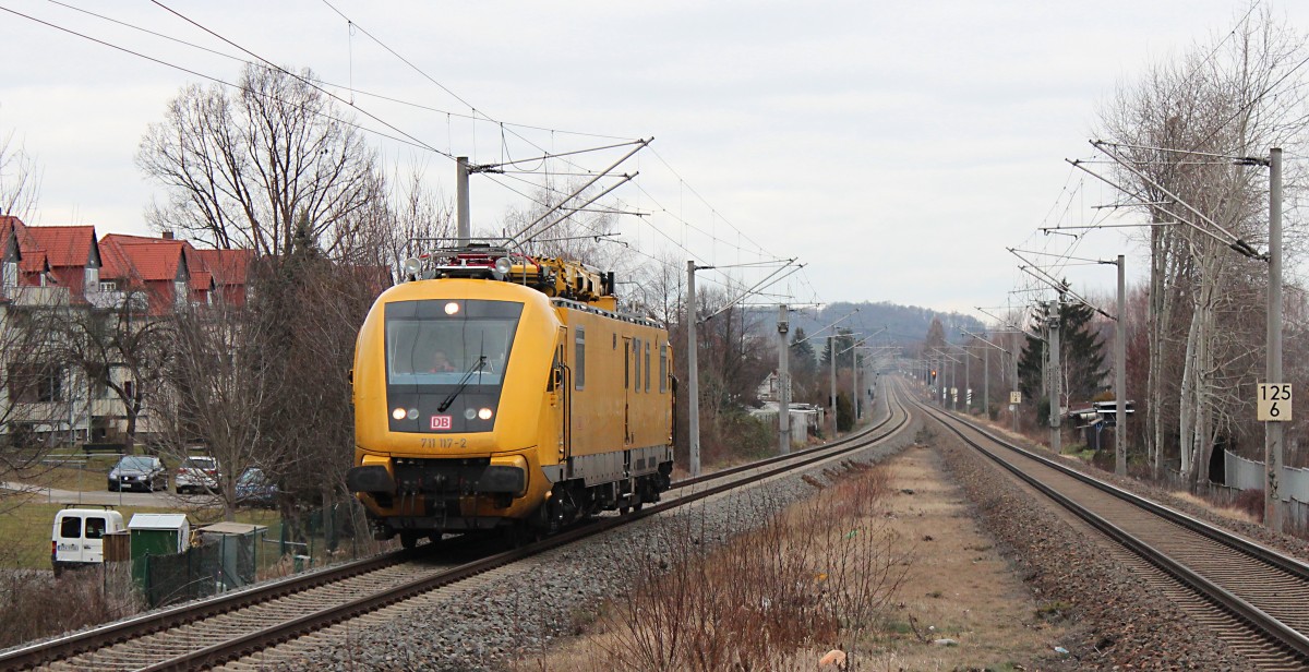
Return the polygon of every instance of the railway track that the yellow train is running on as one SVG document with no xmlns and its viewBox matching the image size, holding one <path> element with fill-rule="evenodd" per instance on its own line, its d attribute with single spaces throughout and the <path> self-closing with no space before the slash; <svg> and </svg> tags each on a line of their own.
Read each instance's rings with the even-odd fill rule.
<svg viewBox="0 0 1309 672">
<path fill-rule="evenodd" d="M 851 452 L 897 435 L 908 424 L 908 410 L 899 400 L 888 394 L 881 422 L 839 441 L 678 481 L 660 504 L 626 516 L 603 516 L 518 549 L 461 563 L 435 559 L 429 546 L 356 561 L 12 650 L 0 654 L 0 669 L 165 671 L 237 662 L 645 516 L 823 461 L 844 458 Z M 446 554 L 470 551 L 453 544 L 453 540 L 442 544 L 449 544 L 449 548 L 441 549 Z M 423 553 L 424 549 L 428 551 Z M 267 659 L 260 660 L 260 664 L 268 663 Z"/>
</svg>

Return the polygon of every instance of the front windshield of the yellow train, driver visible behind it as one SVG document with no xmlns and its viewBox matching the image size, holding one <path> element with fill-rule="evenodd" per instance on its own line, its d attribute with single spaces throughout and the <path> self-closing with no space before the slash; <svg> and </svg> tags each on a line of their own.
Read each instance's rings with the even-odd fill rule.
<svg viewBox="0 0 1309 672">
<path fill-rule="evenodd" d="M 386 307 L 390 385 L 499 386 L 522 304 L 399 301 Z"/>
</svg>

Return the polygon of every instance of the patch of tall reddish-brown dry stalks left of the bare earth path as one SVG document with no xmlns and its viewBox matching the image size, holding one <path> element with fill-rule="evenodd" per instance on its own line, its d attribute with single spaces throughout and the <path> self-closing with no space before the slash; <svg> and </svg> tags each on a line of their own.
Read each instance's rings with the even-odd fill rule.
<svg viewBox="0 0 1309 672">
<path fill-rule="evenodd" d="M 812 669 L 850 648 L 890 608 L 908 558 L 878 515 L 886 470 L 847 462 L 826 476 L 818 496 L 709 554 L 702 521 L 678 517 L 624 599 L 575 614 L 590 637 L 521 667 Z"/>
</svg>

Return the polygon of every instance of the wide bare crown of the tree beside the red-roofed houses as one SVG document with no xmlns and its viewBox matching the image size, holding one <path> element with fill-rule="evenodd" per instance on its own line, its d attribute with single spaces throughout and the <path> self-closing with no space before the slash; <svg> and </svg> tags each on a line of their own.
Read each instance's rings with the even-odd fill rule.
<svg viewBox="0 0 1309 672">
<path fill-rule="evenodd" d="M 304 215 L 329 255 L 347 255 L 385 182 L 361 131 L 314 80 L 309 69 L 249 64 L 236 96 L 182 89 L 136 155 L 168 191 L 148 212 L 152 225 L 281 257 Z"/>
</svg>

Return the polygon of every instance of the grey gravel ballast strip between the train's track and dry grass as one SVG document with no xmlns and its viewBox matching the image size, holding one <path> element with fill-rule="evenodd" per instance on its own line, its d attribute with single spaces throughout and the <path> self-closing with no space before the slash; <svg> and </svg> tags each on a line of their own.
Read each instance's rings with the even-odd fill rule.
<svg viewBox="0 0 1309 672">
<path fill-rule="evenodd" d="M 912 420 L 888 445 L 850 457 L 878 461 L 914 443 L 922 420 Z M 658 562 L 669 534 L 690 525 L 721 542 L 755 529 L 763 520 L 810 496 L 802 476 L 770 479 L 745 493 L 715 496 L 675 515 L 656 515 L 579 544 L 501 569 L 476 587 L 423 600 L 402 617 L 352 630 L 340 646 L 281 663 L 278 669 L 503 669 L 509 660 L 534 658 L 554 639 L 572 634 L 571 614 L 593 613 L 631 584 L 643 562 Z M 363 631 L 359 631 L 363 630 Z"/>
</svg>

